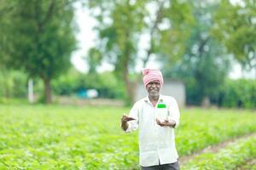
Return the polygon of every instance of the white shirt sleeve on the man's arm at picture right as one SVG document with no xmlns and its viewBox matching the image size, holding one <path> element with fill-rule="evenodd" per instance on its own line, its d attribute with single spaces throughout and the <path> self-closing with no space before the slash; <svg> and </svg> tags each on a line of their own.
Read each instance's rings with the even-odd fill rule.
<svg viewBox="0 0 256 170">
<path fill-rule="evenodd" d="M 172 99 L 172 102 L 168 108 L 168 120 L 172 120 L 176 122 L 174 128 L 176 128 L 179 124 L 179 116 L 180 116 L 180 113 L 177 105 L 177 100 Z"/>
</svg>

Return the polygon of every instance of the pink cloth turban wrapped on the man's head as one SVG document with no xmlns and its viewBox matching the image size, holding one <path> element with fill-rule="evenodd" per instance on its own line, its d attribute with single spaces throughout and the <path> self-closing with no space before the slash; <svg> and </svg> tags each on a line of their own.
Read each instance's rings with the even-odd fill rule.
<svg viewBox="0 0 256 170">
<path fill-rule="evenodd" d="M 164 79 L 162 76 L 161 71 L 155 70 L 155 69 L 143 69 L 143 82 L 144 82 L 144 87 L 148 85 L 149 82 L 152 81 L 159 81 L 161 88 L 163 87 L 164 84 Z"/>
</svg>

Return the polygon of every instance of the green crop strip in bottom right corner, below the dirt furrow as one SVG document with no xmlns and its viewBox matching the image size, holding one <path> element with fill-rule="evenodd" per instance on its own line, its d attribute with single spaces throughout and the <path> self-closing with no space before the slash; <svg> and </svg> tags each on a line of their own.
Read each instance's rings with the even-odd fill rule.
<svg viewBox="0 0 256 170">
<path fill-rule="evenodd" d="M 218 153 L 205 153 L 182 167 L 183 169 L 237 169 L 256 156 L 256 137 L 240 139 Z"/>
</svg>

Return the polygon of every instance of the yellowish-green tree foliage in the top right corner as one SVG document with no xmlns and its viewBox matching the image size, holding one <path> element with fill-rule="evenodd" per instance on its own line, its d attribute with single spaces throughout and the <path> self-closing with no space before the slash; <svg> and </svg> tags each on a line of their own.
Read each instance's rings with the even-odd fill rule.
<svg viewBox="0 0 256 170">
<path fill-rule="evenodd" d="M 214 20 L 212 34 L 234 55 L 243 68 L 256 71 L 256 2 L 222 1 Z"/>
</svg>

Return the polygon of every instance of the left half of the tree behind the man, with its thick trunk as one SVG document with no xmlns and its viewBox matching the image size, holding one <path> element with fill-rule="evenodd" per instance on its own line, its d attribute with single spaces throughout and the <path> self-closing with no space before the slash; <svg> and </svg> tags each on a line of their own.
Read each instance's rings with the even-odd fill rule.
<svg viewBox="0 0 256 170">
<path fill-rule="evenodd" d="M 147 1 L 89 1 L 93 15 L 98 21 L 99 41 L 96 48 L 90 50 L 89 62 L 96 60 L 96 56 L 108 60 L 113 64 L 115 76 L 122 79 L 125 85 L 125 97 L 132 100 L 134 82 L 129 79 L 129 73 L 134 70 L 137 59 L 137 44 L 143 31 L 144 16 L 147 13 Z M 94 13 L 100 9 L 101 13 Z M 96 50 L 93 50 L 96 49 Z M 93 53 L 92 52 L 97 52 Z M 95 59 L 92 59 L 92 58 Z M 95 67 L 95 65 L 92 65 Z M 130 103 L 129 102 L 129 103 Z"/>
</svg>

